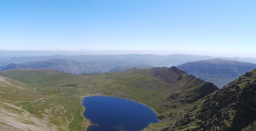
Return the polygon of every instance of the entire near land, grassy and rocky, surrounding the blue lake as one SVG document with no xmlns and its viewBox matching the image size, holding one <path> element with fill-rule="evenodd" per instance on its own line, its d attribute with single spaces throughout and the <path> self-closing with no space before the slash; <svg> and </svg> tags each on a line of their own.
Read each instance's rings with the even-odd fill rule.
<svg viewBox="0 0 256 131">
<path fill-rule="evenodd" d="M 0 122 L 4 126 L 1 128 L 40 130 L 42 124 L 39 123 L 44 121 L 45 128 L 50 130 L 84 130 L 92 124 L 82 115 L 83 97 L 102 95 L 137 101 L 154 110 L 158 116 L 158 123 L 148 125 L 145 131 L 234 129 L 231 116 L 232 118 L 236 116 L 234 114 L 237 112 L 236 108 L 239 111 L 246 108 L 234 107 L 236 101 L 233 100 L 239 100 L 240 93 L 243 93 L 247 87 L 250 88 L 248 91 L 254 91 L 254 73 L 255 70 L 239 77 L 238 81 L 242 81 L 239 82 L 240 84 L 235 80 L 223 89 L 218 89 L 212 83 L 188 75 L 175 66 L 79 75 L 50 69 L 6 70 L 0 72 L 1 112 L 6 115 L 11 114 L 11 118 L 16 119 L 16 125 L 23 126 L 17 127 L 10 123 L 12 119 L 5 120 L 5 117 L 2 117 Z M 249 82 L 250 85 L 243 81 Z M 233 94 L 232 98 L 217 100 L 226 96 L 222 92 L 236 92 L 236 90 L 238 94 L 224 93 Z M 217 101 L 214 101 L 215 99 Z M 247 98 L 241 99 L 247 100 Z M 233 107 L 218 107 L 221 100 L 233 102 Z M 250 100 L 254 99 L 250 98 Z M 215 103 L 218 108 L 213 108 L 209 101 Z M 215 114 L 216 120 L 227 121 L 220 123 L 219 127 L 215 126 L 215 120 L 212 120 L 214 115 L 207 113 L 217 113 L 218 110 L 223 113 Z M 255 114 L 254 111 L 251 112 L 250 115 Z M 20 117 L 17 119 L 17 116 Z M 249 121 L 247 119 L 244 117 L 243 121 Z M 241 125 L 240 129 L 254 129 L 250 126 L 255 121 L 254 118 L 250 121 L 249 124 L 247 122 Z"/>
</svg>

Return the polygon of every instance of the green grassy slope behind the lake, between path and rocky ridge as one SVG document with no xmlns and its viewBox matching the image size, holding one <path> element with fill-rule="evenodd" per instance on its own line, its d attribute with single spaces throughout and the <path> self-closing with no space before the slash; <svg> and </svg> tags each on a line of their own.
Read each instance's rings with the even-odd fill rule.
<svg viewBox="0 0 256 131">
<path fill-rule="evenodd" d="M 169 95 L 165 88 L 169 85 L 150 76 L 146 69 L 83 75 L 92 83 L 92 93 L 137 100 L 154 107 L 158 112 L 161 112 L 159 107 L 163 104 L 162 99 Z"/>
</svg>

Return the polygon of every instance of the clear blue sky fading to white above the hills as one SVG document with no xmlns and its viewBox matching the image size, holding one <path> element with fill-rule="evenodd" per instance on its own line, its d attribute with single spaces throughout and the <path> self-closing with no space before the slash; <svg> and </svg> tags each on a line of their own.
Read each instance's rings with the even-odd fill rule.
<svg viewBox="0 0 256 131">
<path fill-rule="evenodd" d="M 0 50 L 256 57 L 255 6 L 256 0 L 0 0 Z"/>
</svg>

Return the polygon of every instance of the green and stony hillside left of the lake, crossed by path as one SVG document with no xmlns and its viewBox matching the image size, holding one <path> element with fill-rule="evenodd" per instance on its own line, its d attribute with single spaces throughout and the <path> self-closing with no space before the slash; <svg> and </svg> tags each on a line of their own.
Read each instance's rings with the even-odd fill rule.
<svg viewBox="0 0 256 131">
<path fill-rule="evenodd" d="M 61 79 L 72 74 L 52 70 L 9 73 L 19 81 L 0 76 L 0 130 L 84 130 L 90 124 L 82 116 L 82 98 L 75 96 L 88 90 L 81 76 L 70 84 Z"/>
</svg>

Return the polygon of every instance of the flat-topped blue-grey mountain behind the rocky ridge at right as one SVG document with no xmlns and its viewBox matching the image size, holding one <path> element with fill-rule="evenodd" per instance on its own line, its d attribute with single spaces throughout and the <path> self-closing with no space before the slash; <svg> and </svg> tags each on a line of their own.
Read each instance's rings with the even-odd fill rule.
<svg viewBox="0 0 256 131">
<path fill-rule="evenodd" d="M 188 74 L 212 82 L 222 88 L 242 74 L 254 69 L 256 64 L 233 60 L 207 59 L 188 62 L 177 67 Z"/>
</svg>

